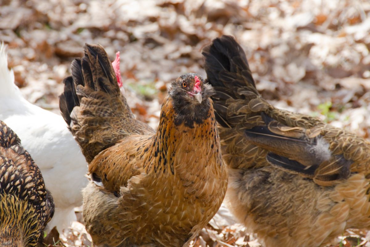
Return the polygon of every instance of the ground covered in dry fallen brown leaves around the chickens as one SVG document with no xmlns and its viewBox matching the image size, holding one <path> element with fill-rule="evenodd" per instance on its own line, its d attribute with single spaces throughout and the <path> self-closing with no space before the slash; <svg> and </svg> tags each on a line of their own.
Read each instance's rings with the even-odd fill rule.
<svg viewBox="0 0 370 247">
<path fill-rule="evenodd" d="M 232 34 L 265 99 L 369 138 L 369 33 L 365 0 L 0 0 L 0 40 L 27 100 L 58 113 L 70 62 L 84 43 L 100 43 L 112 60 L 121 52 L 128 102 L 152 127 L 171 80 L 205 76 L 202 47 Z M 54 234 L 49 244 L 91 245 L 79 222 Z M 366 231 L 340 238 L 332 246 L 370 246 Z M 260 246 L 226 208 L 192 244 L 207 245 Z"/>
</svg>

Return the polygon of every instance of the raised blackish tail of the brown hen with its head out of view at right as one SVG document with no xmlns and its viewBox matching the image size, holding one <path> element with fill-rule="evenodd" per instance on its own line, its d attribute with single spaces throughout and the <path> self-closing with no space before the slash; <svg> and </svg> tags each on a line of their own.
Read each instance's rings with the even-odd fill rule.
<svg viewBox="0 0 370 247">
<path fill-rule="evenodd" d="M 232 36 L 224 35 L 214 39 L 202 54 L 208 82 L 216 91 L 212 97 L 216 119 L 223 127 L 233 127 L 240 122 L 236 117 L 240 107 L 259 97 L 243 48 Z M 234 109 L 232 104 L 240 107 Z"/>
</svg>

